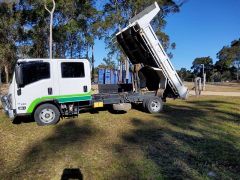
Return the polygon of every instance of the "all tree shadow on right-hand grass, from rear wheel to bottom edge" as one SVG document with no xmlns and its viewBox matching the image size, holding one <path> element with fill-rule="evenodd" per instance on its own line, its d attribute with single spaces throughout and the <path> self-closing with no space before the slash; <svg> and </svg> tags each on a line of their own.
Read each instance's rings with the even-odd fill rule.
<svg viewBox="0 0 240 180">
<path fill-rule="evenodd" d="M 127 157 L 126 162 L 132 164 L 128 150 L 139 148 L 145 159 L 154 162 L 162 176 L 168 179 L 239 179 L 240 150 L 235 145 L 239 140 L 216 129 L 216 119 L 211 119 L 216 117 L 218 121 L 236 123 L 239 114 L 207 109 L 221 103 L 234 104 L 206 101 L 194 102 L 197 106 L 191 106 L 192 102 L 187 103 L 185 106 L 166 105 L 164 112 L 150 121 L 132 119 L 135 128 L 122 134 L 123 143 L 113 147 L 119 152 L 118 156 Z M 167 121 L 171 126 L 161 126 L 157 119 Z M 138 173 L 138 168 L 135 169 Z M 131 173 L 128 175 L 131 177 Z M 153 173 L 149 178 L 155 179 L 156 176 Z"/>
</svg>

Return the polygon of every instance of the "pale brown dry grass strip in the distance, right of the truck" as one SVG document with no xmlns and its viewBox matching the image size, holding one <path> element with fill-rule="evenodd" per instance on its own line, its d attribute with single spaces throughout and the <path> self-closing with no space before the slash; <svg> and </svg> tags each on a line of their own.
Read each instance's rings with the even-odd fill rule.
<svg viewBox="0 0 240 180">
<path fill-rule="evenodd" d="M 194 87 L 194 82 L 184 82 L 188 89 Z M 240 83 L 220 83 L 220 84 L 206 84 L 206 91 L 213 92 L 239 92 Z"/>
</svg>

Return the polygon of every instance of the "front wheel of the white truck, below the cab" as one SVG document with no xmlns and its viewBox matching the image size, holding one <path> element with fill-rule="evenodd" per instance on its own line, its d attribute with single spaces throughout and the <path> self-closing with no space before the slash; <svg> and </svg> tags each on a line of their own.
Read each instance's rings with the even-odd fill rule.
<svg viewBox="0 0 240 180">
<path fill-rule="evenodd" d="M 58 123 L 60 112 L 53 104 L 42 104 L 34 112 L 34 120 L 39 126 Z"/>
</svg>

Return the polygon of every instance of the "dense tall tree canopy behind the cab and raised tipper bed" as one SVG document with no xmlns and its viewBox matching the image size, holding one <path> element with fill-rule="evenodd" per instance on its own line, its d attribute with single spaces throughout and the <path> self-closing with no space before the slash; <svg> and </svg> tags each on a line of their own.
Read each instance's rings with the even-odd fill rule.
<svg viewBox="0 0 240 180">
<path fill-rule="evenodd" d="M 87 57 L 94 68 L 96 39 L 105 39 L 110 54 L 123 61 L 122 53 L 113 39 L 128 19 L 151 5 L 152 0 L 55 0 L 53 16 L 53 58 Z M 169 36 L 163 31 L 166 16 L 179 12 L 182 3 L 157 0 L 161 13 L 152 25 L 164 48 L 170 45 Z M 52 0 L 18 0 L 0 2 L 0 61 L 10 71 L 18 58 L 49 57 L 49 13 Z M 92 53 L 91 55 L 89 53 Z M 106 54 L 107 57 L 107 54 Z M 8 72 L 6 72 L 8 74 Z"/>
</svg>

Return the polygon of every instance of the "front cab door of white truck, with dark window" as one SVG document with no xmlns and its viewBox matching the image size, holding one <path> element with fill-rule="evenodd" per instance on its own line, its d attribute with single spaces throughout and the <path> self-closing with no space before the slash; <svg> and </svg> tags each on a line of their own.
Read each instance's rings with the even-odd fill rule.
<svg viewBox="0 0 240 180">
<path fill-rule="evenodd" d="M 22 62 L 23 86 L 15 88 L 17 114 L 32 113 L 41 99 L 54 95 L 50 62 Z"/>
</svg>

